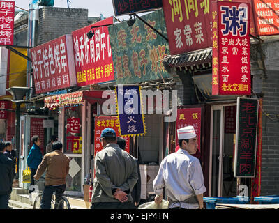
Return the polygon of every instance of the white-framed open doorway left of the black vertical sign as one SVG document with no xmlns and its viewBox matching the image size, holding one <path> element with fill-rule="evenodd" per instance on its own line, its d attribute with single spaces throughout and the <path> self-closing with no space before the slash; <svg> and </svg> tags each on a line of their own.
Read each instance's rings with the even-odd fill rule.
<svg viewBox="0 0 279 223">
<path fill-rule="evenodd" d="M 236 196 L 233 172 L 236 104 L 211 107 L 209 196 Z"/>
</svg>

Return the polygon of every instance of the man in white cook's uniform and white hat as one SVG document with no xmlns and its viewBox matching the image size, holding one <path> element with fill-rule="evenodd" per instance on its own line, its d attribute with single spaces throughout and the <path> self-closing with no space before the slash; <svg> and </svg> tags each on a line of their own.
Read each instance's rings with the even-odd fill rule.
<svg viewBox="0 0 279 223">
<path fill-rule="evenodd" d="M 153 181 L 155 202 L 161 203 L 165 187 L 169 208 L 202 209 L 206 187 L 199 160 L 192 156 L 197 152 L 195 129 L 193 126 L 180 128 L 177 135 L 179 150 L 165 157 Z"/>
</svg>

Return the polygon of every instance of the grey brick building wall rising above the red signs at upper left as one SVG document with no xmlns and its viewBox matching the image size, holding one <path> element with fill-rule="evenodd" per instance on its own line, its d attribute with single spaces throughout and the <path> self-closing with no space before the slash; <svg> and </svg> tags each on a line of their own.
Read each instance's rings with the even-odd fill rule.
<svg viewBox="0 0 279 223">
<path fill-rule="evenodd" d="M 89 25 L 88 9 L 43 7 L 39 10 L 38 43 L 70 34 Z"/>
</svg>

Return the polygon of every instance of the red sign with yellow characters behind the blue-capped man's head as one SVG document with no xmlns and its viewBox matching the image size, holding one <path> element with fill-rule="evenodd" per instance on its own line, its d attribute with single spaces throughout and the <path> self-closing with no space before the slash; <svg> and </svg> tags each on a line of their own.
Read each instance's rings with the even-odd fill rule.
<svg viewBox="0 0 279 223">
<path fill-rule="evenodd" d="M 98 116 L 95 118 L 94 130 L 94 155 L 103 149 L 100 143 L 100 134 L 105 128 L 112 128 L 116 132 L 116 137 L 120 136 L 119 119 L 117 116 Z M 130 138 L 123 137 L 126 140 L 125 151 L 130 153 Z"/>
</svg>

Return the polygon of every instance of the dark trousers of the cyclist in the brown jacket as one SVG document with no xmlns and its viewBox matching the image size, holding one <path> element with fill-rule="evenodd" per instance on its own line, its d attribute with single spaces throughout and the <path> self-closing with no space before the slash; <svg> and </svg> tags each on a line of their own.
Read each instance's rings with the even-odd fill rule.
<svg viewBox="0 0 279 223">
<path fill-rule="evenodd" d="M 45 189 L 43 191 L 42 201 L 40 203 L 40 209 L 50 209 L 53 192 L 55 192 L 55 207 L 56 207 L 65 189 L 66 189 L 66 184 L 60 186 L 50 186 L 50 185 L 45 186 Z"/>
</svg>

